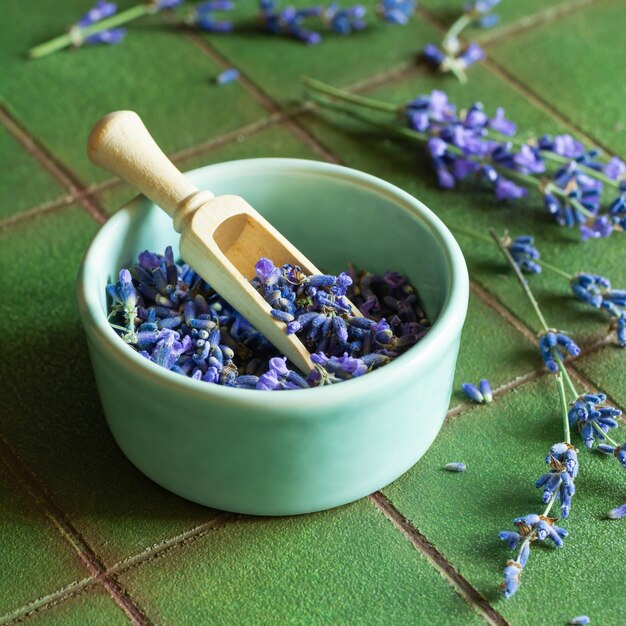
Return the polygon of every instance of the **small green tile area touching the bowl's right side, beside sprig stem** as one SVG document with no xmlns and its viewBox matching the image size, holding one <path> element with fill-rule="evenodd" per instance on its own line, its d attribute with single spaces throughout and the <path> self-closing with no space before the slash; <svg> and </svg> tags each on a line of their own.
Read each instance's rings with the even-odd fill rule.
<svg viewBox="0 0 626 626">
<path fill-rule="evenodd" d="M 532 344 L 491 307 L 470 294 L 451 405 L 467 401 L 461 384 L 487 378 L 495 389 L 538 366 Z"/>
</svg>

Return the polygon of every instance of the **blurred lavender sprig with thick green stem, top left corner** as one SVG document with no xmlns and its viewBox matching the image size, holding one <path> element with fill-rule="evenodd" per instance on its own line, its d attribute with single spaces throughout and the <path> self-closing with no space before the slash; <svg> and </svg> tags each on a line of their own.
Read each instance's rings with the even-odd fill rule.
<svg viewBox="0 0 626 626">
<path fill-rule="evenodd" d="M 67 33 L 31 48 L 28 56 L 31 59 L 39 59 L 63 48 L 77 47 L 84 43 L 117 43 L 124 36 L 124 31 L 117 28 L 118 26 L 145 15 L 172 9 L 182 2 L 183 0 L 148 0 L 117 13 L 117 6 L 114 3 L 99 0 Z"/>
</svg>

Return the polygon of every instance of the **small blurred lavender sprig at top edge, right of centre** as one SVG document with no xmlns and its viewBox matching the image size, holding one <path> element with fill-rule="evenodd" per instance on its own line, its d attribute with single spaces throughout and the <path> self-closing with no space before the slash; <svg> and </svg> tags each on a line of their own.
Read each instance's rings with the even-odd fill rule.
<svg viewBox="0 0 626 626">
<path fill-rule="evenodd" d="M 427 44 L 424 58 L 440 72 L 454 74 L 460 82 L 467 82 L 465 70 L 485 58 L 484 50 L 477 43 L 461 46 L 459 36 L 471 24 L 482 28 L 491 28 L 498 21 L 498 15 L 491 11 L 500 0 L 474 0 L 463 7 L 463 13 L 450 26 L 440 46 Z"/>
</svg>

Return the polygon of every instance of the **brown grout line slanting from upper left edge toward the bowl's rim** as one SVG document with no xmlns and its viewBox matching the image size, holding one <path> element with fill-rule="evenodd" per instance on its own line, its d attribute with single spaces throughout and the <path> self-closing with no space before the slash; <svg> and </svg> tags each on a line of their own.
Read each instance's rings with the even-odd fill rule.
<svg viewBox="0 0 626 626">
<path fill-rule="evenodd" d="M 80 203 L 91 217 L 101 224 L 104 223 L 106 220 L 104 210 L 96 202 L 93 202 L 92 199 L 80 197 L 80 192 L 84 190 L 84 185 L 78 176 L 39 143 L 2 105 L 0 105 L 0 123 L 57 182 L 67 189 L 70 195 Z"/>
</svg>

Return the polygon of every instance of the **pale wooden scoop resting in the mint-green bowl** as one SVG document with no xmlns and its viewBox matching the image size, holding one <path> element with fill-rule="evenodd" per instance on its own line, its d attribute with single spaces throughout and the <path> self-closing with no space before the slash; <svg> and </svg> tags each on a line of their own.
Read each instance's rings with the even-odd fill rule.
<svg viewBox="0 0 626 626">
<path fill-rule="evenodd" d="M 231 306 L 303 372 L 313 368 L 308 350 L 250 284 L 261 257 L 278 267 L 299 265 L 321 272 L 243 198 L 217 198 L 197 189 L 163 154 L 133 111 L 116 111 L 93 127 L 88 141 L 93 163 L 130 183 L 173 220 L 180 254 Z M 352 305 L 353 315 L 361 316 Z"/>
</svg>

